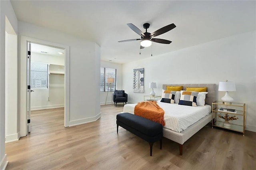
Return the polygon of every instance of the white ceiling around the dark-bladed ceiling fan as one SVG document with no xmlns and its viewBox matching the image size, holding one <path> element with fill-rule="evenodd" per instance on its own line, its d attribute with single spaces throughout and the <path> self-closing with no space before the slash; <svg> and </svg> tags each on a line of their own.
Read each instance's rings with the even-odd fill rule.
<svg viewBox="0 0 256 170">
<path fill-rule="evenodd" d="M 151 47 L 140 52 L 140 38 L 126 24 L 142 32 L 168 24 L 177 27 L 157 36 L 172 43 L 153 43 L 152 53 L 159 55 L 256 29 L 255 1 L 23 1 L 11 0 L 18 20 L 65 32 L 96 42 L 101 59 L 116 63 L 151 57 Z M 116 59 L 114 59 L 116 58 Z"/>
</svg>

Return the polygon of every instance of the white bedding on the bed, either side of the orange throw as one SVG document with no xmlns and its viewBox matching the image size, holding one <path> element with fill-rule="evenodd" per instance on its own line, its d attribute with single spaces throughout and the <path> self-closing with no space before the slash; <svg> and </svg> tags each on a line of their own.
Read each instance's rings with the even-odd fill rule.
<svg viewBox="0 0 256 170">
<path fill-rule="evenodd" d="M 164 128 L 181 132 L 190 125 L 196 123 L 209 113 L 211 113 L 211 106 L 184 106 L 178 104 L 163 103 L 157 101 L 158 105 L 164 110 Z M 134 114 L 134 107 L 137 104 L 124 105 L 123 112 Z"/>
</svg>

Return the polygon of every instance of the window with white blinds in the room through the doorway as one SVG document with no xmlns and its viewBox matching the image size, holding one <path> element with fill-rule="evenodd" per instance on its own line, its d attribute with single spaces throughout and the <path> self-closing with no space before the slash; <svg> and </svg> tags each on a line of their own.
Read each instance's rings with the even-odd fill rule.
<svg viewBox="0 0 256 170">
<path fill-rule="evenodd" d="M 48 63 L 31 61 L 31 88 L 48 88 Z"/>
</svg>

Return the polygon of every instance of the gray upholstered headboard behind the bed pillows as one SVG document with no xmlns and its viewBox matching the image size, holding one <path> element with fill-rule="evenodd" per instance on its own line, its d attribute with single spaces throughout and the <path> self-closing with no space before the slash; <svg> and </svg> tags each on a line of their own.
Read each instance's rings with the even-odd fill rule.
<svg viewBox="0 0 256 170">
<path fill-rule="evenodd" d="M 208 94 L 205 103 L 212 106 L 212 103 L 216 101 L 215 84 L 163 84 L 163 90 L 166 90 L 166 86 L 183 86 L 183 90 L 186 90 L 186 87 L 207 87 Z"/>
</svg>

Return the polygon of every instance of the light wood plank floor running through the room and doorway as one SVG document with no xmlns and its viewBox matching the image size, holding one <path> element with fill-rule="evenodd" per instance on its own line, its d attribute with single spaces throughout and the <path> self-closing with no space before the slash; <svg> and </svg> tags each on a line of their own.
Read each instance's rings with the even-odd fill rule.
<svg viewBox="0 0 256 170">
<path fill-rule="evenodd" d="M 7 170 L 255 170 L 256 133 L 231 132 L 211 125 L 202 128 L 183 146 L 164 138 L 153 146 L 119 127 L 116 114 L 123 106 L 101 106 L 102 117 L 92 123 L 64 128 L 64 110 L 32 113 L 32 132 L 6 144 Z"/>
</svg>

